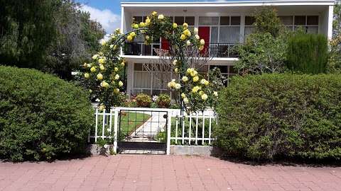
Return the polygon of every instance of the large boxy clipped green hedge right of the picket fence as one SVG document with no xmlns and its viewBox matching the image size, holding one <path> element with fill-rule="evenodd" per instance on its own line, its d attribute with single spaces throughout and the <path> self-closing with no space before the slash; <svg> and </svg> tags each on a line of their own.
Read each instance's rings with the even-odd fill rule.
<svg viewBox="0 0 341 191">
<path fill-rule="evenodd" d="M 251 159 L 341 158 L 341 76 L 235 77 L 220 93 L 216 146 Z"/>
</svg>

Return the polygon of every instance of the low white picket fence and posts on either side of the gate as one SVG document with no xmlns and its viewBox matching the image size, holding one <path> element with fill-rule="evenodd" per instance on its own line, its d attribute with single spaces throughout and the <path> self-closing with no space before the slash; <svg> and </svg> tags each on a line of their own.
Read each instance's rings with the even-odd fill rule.
<svg viewBox="0 0 341 191">
<path fill-rule="evenodd" d="M 180 115 L 180 110 L 163 108 L 112 108 L 111 110 L 99 111 L 94 113 L 96 124 L 94 132 L 89 131 L 88 141 L 94 139 L 113 139 L 114 152 L 117 152 L 117 134 L 119 127 L 119 112 L 121 110 L 129 112 L 167 112 L 167 150 L 170 154 L 171 144 L 180 145 L 211 145 L 212 125 L 217 123 L 217 117 L 212 110 L 197 112 L 191 115 Z M 107 133 L 106 133 L 107 132 Z M 108 134 L 109 133 L 109 134 Z"/>
</svg>

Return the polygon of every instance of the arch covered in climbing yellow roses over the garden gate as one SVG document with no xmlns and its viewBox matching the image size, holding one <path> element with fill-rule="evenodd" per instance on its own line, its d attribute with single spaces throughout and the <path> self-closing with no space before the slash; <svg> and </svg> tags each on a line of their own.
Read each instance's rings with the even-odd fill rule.
<svg viewBox="0 0 341 191">
<path fill-rule="evenodd" d="M 146 45 L 159 37 L 169 42 L 173 50 L 171 60 L 174 72 L 178 75 L 168 82 L 168 88 L 179 93 L 182 111 L 203 111 L 215 103 L 215 87 L 195 68 L 188 67 L 185 59 L 188 47 L 205 51 L 205 41 L 200 39 L 197 28 L 192 30 L 187 23 L 172 23 L 169 18 L 155 11 L 146 18 L 146 22 L 133 22 L 132 28 L 125 34 L 119 29 L 115 30 L 109 40 L 102 43 L 101 51 L 94 54 L 92 62 L 84 64 L 84 78 L 92 97 L 100 101 L 99 109 L 111 108 L 121 102 L 125 60 L 119 57 L 119 53 L 124 42 L 132 42 L 137 35 L 144 35 Z"/>
</svg>

